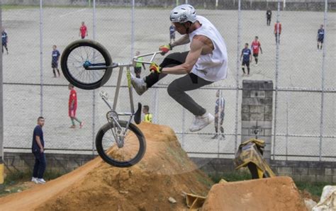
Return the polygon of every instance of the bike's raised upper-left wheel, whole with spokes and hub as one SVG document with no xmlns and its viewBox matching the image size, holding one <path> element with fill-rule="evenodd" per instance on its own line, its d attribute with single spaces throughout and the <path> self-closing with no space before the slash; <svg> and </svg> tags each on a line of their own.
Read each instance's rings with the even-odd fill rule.
<svg viewBox="0 0 336 211">
<path fill-rule="evenodd" d="M 112 68 L 107 68 L 111 64 L 112 59 L 106 48 L 93 40 L 77 40 L 70 43 L 61 57 L 65 78 L 80 89 L 97 89 L 106 84 L 112 74 Z"/>
</svg>

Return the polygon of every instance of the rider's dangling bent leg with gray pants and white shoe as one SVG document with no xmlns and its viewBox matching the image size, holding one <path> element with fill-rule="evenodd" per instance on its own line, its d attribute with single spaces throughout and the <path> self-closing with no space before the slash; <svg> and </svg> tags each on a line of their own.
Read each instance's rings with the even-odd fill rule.
<svg viewBox="0 0 336 211">
<path fill-rule="evenodd" d="M 186 94 L 185 91 L 195 90 L 212 83 L 212 81 L 206 81 L 191 73 L 179 79 L 175 79 L 168 86 L 167 91 L 169 96 L 174 98 L 177 103 L 181 104 L 184 108 L 186 108 L 186 110 L 189 110 L 195 115 L 193 125 L 189 128 L 191 132 L 195 132 L 201 130 L 203 127 L 206 127 L 213 122 L 214 117 L 210 113 L 207 113 L 205 108 L 198 105 L 198 103 Z"/>
</svg>

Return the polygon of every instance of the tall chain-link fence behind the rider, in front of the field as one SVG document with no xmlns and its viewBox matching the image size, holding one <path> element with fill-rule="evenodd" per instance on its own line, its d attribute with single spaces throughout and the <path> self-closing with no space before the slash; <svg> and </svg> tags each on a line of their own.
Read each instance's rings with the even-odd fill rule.
<svg viewBox="0 0 336 211">
<path fill-rule="evenodd" d="M 233 157 L 241 142 L 242 80 L 274 81 L 272 159 L 335 161 L 335 52 L 336 1 L 2 1 L 2 25 L 8 35 L 4 50 L 4 147 L 9 151 L 30 149 L 33 127 L 45 117 L 49 152 L 94 153 L 96 132 L 106 123 L 106 105 L 99 91 L 110 96 L 116 89 L 118 70 L 96 91 L 77 89 L 77 116 L 84 127 L 71 129 L 69 90 L 64 76 L 54 77 L 52 45 L 62 50 L 80 39 L 82 22 L 86 38 L 105 46 L 113 62 L 129 62 L 135 55 L 153 52 L 169 42 L 169 11 L 178 4 L 192 4 L 220 31 L 228 48 L 228 79 L 215 82 L 190 95 L 211 113 L 215 93 L 225 98 L 225 139 L 215 127 L 189 132 L 193 116 L 172 100 L 167 86 L 179 76 L 167 76 L 135 102 L 150 106 L 154 122 L 169 125 L 191 156 Z M 40 3 L 40 4 L 39 4 Z M 267 25 L 267 9 L 271 23 Z M 274 24 L 281 23 L 280 42 Z M 318 28 L 325 38 L 318 50 Z M 251 62 L 250 76 L 242 75 L 240 54 L 245 43 L 259 37 L 262 54 Z M 177 34 L 177 38 L 180 35 Z M 189 46 L 174 51 L 189 50 Z M 158 58 L 157 62 L 162 61 Z M 56 72 L 57 74 L 57 72 Z M 141 76 L 147 70 L 142 69 Z M 129 109 L 123 79 L 117 110 Z"/>
</svg>

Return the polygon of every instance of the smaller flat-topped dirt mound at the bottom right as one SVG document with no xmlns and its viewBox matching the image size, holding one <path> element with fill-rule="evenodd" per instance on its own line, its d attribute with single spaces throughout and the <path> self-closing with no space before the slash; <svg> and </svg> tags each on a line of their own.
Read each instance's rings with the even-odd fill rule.
<svg viewBox="0 0 336 211">
<path fill-rule="evenodd" d="M 305 210 L 290 177 L 219 183 L 208 193 L 203 210 Z"/>
</svg>

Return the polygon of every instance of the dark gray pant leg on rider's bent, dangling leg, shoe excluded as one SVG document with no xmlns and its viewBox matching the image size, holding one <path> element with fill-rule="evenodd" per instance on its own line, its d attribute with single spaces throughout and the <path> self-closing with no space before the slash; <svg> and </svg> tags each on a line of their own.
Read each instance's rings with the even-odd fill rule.
<svg viewBox="0 0 336 211">
<path fill-rule="evenodd" d="M 195 90 L 212 83 L 213 82 L 206 81 L 191 73 L 172 81 L 167 90 L 169 96 L 174 98 L 174 100 L 180 103 L 186 110 L 189 110 L 194 115 L 203 115 L 206 113 L 206 109 L 198 105 L 193 98 L 186 94 L 186 91 Z"/>
</svg>

